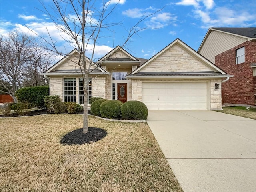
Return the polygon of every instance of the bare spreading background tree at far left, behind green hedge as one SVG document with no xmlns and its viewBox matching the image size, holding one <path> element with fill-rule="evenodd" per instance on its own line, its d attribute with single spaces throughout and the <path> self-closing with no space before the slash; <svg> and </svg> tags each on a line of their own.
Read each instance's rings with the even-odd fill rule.
<svg viewBox="0 0 256 192">
<path fill-rule="evenodd" d="M 23 86 L 35 86 L 46 81 L 39 76 L 49 67 L 50 55 L 32 44 L 33 38 L 18 31 L 0 38 L 0 92 L 18 102 L 15 92 Z"/>
</svg>

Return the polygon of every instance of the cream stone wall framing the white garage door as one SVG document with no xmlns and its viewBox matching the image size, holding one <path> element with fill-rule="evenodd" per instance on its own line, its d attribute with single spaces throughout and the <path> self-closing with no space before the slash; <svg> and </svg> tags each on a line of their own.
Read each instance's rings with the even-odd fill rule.
<svg viewBox="0 0 256 192">
<path fill-rule="evenodd" d="M 210 82 L 210 110 L 221 109 L 221 80 L 205 79 L 205 80 L 132 80 L 132 100 L 142 101 L 142 83 L 143 82 Z M 220 85 L 219 89 L 215 89 L 215 83 Z"/>
</svg>

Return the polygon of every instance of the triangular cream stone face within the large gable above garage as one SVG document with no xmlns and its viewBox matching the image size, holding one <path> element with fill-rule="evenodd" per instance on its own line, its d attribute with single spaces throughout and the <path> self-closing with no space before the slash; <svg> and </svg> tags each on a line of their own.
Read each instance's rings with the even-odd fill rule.
<svg viewBox="0 0 256 192">
<path fill-rule="evenodd" d="M 154 59 L 141 72 L 201 72 L 212 71 L 200 60 L 193 57 L 186 50 L 178 45 L 172 46 L 169 50 Z"/>
</svg>

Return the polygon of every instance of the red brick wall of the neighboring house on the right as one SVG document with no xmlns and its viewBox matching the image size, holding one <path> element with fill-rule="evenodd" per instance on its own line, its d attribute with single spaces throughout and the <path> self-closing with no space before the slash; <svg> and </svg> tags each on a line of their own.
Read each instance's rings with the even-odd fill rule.
<svg viewBox="0 0 256 192">
<path fill-rule="evenodd" d="M 236 65 L 236 50 L 245 47 L 245 62 Z M 234 75 L 222 84 L 223 102 L 255 105 L 256 77 L 252 76 L 252 63 L 256 63 L 256 41 L 244 42 L 215 56 L 215 64 Z"/>
</svg>

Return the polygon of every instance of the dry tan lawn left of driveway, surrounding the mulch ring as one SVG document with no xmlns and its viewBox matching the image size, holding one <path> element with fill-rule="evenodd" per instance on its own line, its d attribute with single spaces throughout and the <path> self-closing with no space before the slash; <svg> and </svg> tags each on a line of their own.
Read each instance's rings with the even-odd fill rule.
<svg viewBox="0 0 256 192">
<path fill-rule="evenodd" d="M 0 118 L 0 191 L 182 191 L 146 123 L 89 116 L 89 126 L 108 135 L 67 146 L 82 115 Z"/>
</svg>

